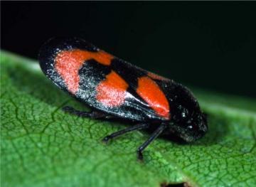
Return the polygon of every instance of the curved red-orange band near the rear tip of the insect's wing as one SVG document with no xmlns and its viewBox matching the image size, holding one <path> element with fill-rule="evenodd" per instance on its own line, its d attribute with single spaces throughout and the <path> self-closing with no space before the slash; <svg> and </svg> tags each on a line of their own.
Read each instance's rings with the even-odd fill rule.
<svg viewBox="0 0 256 187">
<path fill-rule="evenodd" d="M 78 70 L 86 60 L 95 59 L 103 65 L 110 65 L 114 57 L 103 50 L 90 52 L 87 50 L 63 50 L 55 57 L 55 68 L 58 74 L 63 78 L 68 90 L 75 94 L 79 87 Z"/>
</svg>

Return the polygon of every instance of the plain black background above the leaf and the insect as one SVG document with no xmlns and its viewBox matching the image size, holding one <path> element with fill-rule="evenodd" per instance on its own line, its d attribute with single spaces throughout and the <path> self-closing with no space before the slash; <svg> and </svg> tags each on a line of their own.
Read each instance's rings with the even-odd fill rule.
<svg viewBox="0 0 256 187">
<path fill-rule="evenodd" d="M 186 85 L 256 97 L 256 2 L 1 1 L 2 49 L 37 58 L 53 36 L 80 36 Z"/>
</svg>

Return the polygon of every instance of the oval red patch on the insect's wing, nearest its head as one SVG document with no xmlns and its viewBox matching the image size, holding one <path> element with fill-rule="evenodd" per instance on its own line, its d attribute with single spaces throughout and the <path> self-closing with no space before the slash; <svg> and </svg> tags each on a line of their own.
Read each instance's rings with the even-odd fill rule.
<svg viewBox="0 0 256 187">
<path fill-rule="evenodd" d="M 149 77 L 139 78 L 137 93 L 154 109 L 156 114 L 166 119 L 170 118 L 169 102 L 154 80 Z"/>
</svg>

